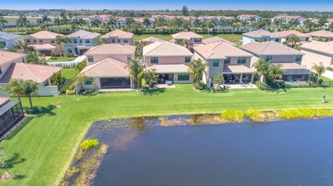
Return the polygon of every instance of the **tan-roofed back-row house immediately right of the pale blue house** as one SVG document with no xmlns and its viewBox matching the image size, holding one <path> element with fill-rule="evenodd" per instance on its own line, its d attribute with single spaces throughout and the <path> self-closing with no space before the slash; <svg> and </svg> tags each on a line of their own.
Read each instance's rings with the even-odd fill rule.
<svg viewBox="0 0 333 186">
<path fill-rule="evenodd" d="M 108 44 L 133 44 L 133 33 L 116 29 L 102 35 L 101 39 L 105 39 Z"/>
</svg>

